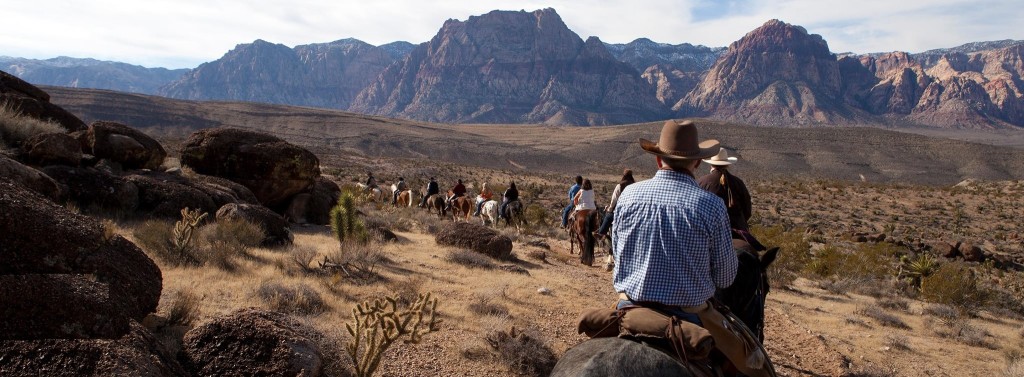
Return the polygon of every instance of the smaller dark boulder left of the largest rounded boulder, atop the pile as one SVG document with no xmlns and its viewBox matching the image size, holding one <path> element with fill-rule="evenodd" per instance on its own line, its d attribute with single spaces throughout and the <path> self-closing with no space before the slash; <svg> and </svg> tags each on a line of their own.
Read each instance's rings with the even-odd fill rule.
<svg viewBox="0 0 1024 377">
<path fill-rule="evenodd" d="M 86 152 L 116 161 L 125 169 L 157 169 L 167 157 L 156 139 L 117 122 L 92 122 L 85 139 Z"/>
</svg>

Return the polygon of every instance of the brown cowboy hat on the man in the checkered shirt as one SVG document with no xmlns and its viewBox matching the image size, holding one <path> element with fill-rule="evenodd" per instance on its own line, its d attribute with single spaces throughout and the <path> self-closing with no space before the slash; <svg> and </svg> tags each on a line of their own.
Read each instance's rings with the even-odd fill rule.
<svg viewBox="0 0 1024 377">
<path fill-rule="evenodd" d="M 718 154 L 718 140 L 697 142 L 697 127 L 693 121 L 665 121 L 662 126 L 662 137 L 657 142 L 640 139 L 640 148 L 649 154 L 673 160 L 707 159 Z"/>
</svg>

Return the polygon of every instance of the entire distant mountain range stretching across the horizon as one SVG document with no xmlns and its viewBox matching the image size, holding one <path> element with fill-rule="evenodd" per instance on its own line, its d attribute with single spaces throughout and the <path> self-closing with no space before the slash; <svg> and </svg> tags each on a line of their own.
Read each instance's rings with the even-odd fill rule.
<svg viewBox="0 0 1024 377">
<path fill-rule="evenodd" d="M 59 61 L 54 61 L 59 60 Z M 728 48 L 587 40 L 553 9 L 450 19 L 428 42 L 240 44 L 194 70 L 0 58 L 36 84 L 340 109 L 442 123 L 1024 126 L 1024 41 L 833 53 L 769 20 Z"/>
</svg>

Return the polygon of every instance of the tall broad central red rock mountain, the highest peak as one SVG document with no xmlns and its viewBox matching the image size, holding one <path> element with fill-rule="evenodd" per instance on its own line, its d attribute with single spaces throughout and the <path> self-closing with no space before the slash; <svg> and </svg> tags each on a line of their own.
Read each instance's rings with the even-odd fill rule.
<svg viewBox="0 0 1024 377">
<path fill-rule="evenodd" d="M 603 125 L 665 119 L 640 74 L 554 9 L 450 19 L 350 111 L 452 123 Z"/>
</svg>

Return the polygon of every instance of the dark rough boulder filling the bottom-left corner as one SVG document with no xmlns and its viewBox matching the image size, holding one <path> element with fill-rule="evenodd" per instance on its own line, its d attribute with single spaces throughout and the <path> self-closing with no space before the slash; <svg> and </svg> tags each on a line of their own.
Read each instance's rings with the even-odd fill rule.
<svg viewBox="0 0 1024 377">
<path fill-rule="evenodd" d="M 187 376 L 138 323 L 116 339 L 0 340 L 3 376 Z"/>
</svg>

